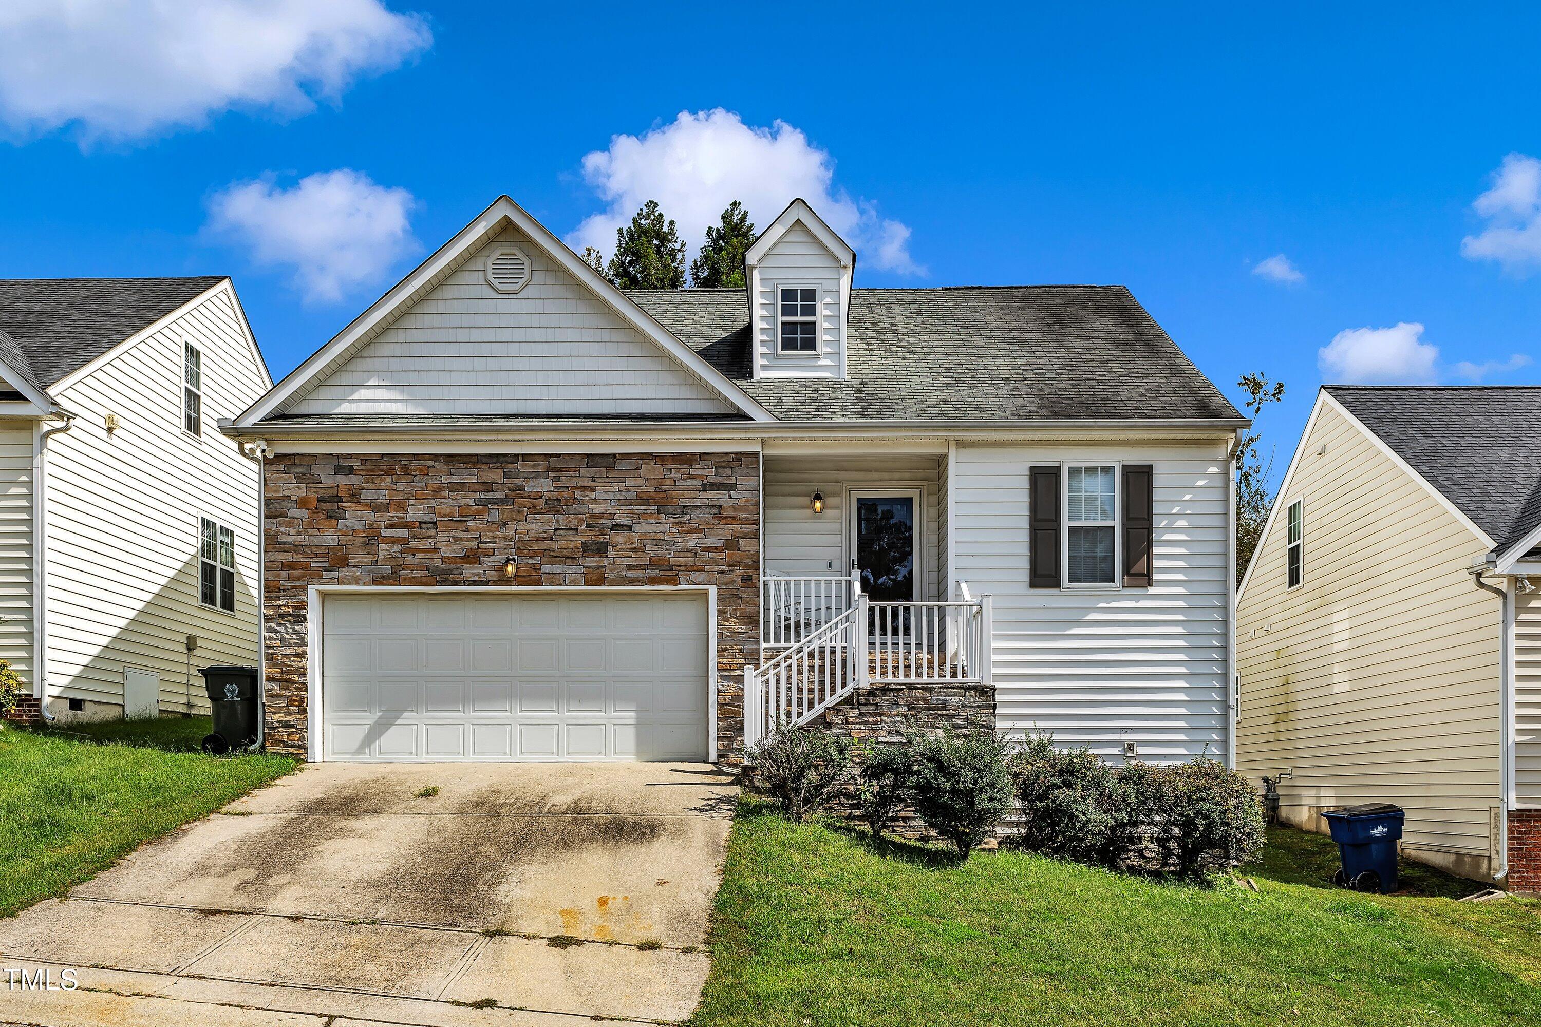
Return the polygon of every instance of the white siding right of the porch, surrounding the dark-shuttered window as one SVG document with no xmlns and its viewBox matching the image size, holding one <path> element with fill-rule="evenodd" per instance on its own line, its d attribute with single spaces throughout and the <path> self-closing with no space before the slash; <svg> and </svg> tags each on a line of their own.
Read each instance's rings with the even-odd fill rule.
<svg viewBox="0 0 1541 1027">
<path fill-rule="evenodd" d="M 951 574 L 994 596 L 995 719 L 1122 761 L 1225 751 L 1224 442 L 963 443 Z M 1150 463 L 1154 577 L 1136 591 L 1028 588 L 1028 468 Z"/>
</svg>

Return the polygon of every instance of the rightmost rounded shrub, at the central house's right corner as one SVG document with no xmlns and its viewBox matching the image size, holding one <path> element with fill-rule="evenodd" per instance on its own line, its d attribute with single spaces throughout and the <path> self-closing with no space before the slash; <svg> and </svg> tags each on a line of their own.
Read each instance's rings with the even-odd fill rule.
<svg viewBox="0 0 1541 1027">
<path fill-rule="evenodd" d="M 1128 873 L 1199 881 L 1262 851 L 1262 801 L 1251 782 L 1217 759 L 1119 771 L 1110 862 Z"/>
</svg>

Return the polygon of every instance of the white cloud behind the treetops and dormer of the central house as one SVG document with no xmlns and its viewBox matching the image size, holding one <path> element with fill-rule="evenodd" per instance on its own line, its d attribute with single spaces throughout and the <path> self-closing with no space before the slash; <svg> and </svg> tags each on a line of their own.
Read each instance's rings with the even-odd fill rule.
<svg viewBox="0 0 1541 1027">
<path fill-rule="evenodd" d="M 567 237 L 578 251 L 593 246 L 609 254 L 616 228 L 647 200 L 658 200 L 693 253 L 730 202 L 743 202 L 755 226 L 764 228 L 803 197 L 863 262 L 898 274 L 926 273 L 909 256 L 909 228 L 835 188 L 834 159 L 786 122 L 755 128 L 721 108 L 683 111 L 643 135 L 613 137 L 607 149 L 582 159 L 582 171 L 609 206 Z"/>
</svg>

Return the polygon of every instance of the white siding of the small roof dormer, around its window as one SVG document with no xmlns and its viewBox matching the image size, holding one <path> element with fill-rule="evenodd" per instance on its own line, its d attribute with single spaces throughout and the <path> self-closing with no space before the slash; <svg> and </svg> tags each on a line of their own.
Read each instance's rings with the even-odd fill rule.
<svg viewBox="0 0 1541 1027">
<path fill-rule="evenodd" d="M 755 350 L 760 374 L 838 377 L 841 373 L 840 262 L 801 223 L 792 225 L 754 268 Z M 815 289 L 817 350 L 784 353 L 780 342 L 783 288 Z"/>
</svg>

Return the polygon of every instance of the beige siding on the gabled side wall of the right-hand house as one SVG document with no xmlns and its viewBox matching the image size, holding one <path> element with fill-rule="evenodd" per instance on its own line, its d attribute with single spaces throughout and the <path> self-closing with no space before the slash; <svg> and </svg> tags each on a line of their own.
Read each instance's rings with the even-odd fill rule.
<svg viewBox="0 0 1541 1027">
<path fill-rule="evenodd" d="M 1281 787 L 1293 824 L 1319 831 L 1324 807 L 1395 802 L 1404 848 L 1486 867 L 1499 600 L 1469 567 L 1487 547 L 1322 403 L 1287 485 L 1307 500 L 1310 573 L 1288 588 L 1279 511 L 1239 600 L 1237 765 L 1253 781 L 1294 773 Z"/>
</svg>

